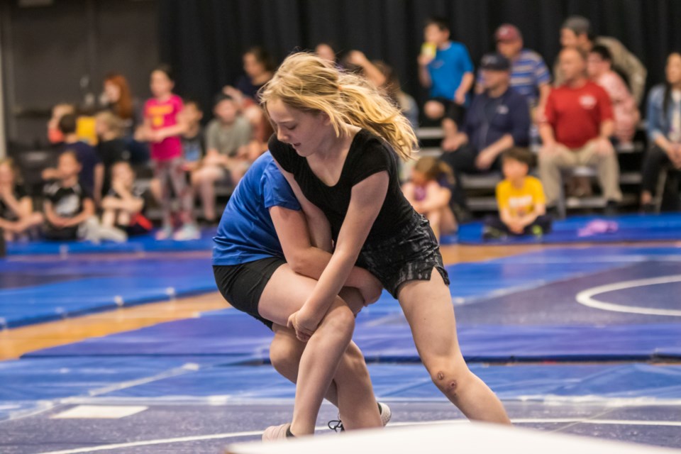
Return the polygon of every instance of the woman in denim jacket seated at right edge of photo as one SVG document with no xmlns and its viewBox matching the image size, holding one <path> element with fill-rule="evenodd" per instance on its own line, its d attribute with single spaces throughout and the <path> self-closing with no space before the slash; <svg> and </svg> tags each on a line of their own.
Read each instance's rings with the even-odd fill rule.
<svg viewBox="0 0 681 454">
<path fill-rule="evenodd" d="M 653 194 L 658 186 L 660 170 L 681 170 L 681 54 L 667 57 L 666 81 L 656 85 L 648 95 L 648 142 L 650 149 L 643 157 L 641 206 L 653 212 Z M 661 196 L 661 194 L 660 194 Z M 678 194 L 677 194 L 678 198 Z"/>
</svg>

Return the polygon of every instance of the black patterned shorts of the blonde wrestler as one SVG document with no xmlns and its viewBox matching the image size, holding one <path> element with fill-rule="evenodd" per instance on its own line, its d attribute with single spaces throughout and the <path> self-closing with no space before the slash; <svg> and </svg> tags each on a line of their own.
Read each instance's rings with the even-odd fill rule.
<svg viewBox="0 0 681 454">
<path fill-rule="evenodd" d="M 449 285 L 438 240 L 428 219 L 416 211 L 409 223 L 392 238 L 366 243 L 357 265 L 369 270 L 396 299 L 400 285 L 414 280 L 430 280 L 433 267 Z"/>
</svg>

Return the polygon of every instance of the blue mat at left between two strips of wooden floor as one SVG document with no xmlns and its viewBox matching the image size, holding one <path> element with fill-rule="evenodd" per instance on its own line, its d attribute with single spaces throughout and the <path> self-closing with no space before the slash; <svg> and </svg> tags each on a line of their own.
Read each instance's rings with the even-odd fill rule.
<svg viewBox="0 0 681 454">
<path fill-rule="evenodd" d="M 0 260 L 0 327 L 16 327 L 216 289 L 209 258 Z M 21 276 L 21 279 L 18 279 Z"/>
</svg>

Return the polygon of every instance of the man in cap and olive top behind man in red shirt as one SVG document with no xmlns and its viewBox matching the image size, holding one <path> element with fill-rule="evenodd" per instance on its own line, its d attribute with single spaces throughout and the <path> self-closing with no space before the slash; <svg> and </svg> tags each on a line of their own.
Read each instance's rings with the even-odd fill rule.
<svg viewBox="0 0 681 454">
<path fill-rule="evenodd" d="M 589 52 L 597 44 L 606 47 L 612 56 L 613 70 L 626 78 L 636 105 L 641 104 L 646 91 L 648 71 L 641 60 L 629 52 L 619 40 L 611 36 L 595 36 L 589 19 L 570 16 L 565 19 L 560 29 L 560 44 L 563 48 L 580 48 L 582 52 Z M 560 87 L 565 83 L 565 75 L 560 74 L 560 62 L 556 62 L 553 70 L 555 87 Z"/>
</svg>

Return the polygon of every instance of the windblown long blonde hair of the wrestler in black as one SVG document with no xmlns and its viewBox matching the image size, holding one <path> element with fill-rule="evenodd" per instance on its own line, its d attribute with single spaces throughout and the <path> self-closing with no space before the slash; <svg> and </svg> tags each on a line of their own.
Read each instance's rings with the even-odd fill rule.
<svg viewBox="0 0 681 454">
<path fill-rule="evenodd" d="M 289 55 L 262 87 L 261 104 L 279 99 L 292 109 L 328 115 L 339 137 L 348 125 L 383 138 L 403 160 L 418 148 L 411 123 L 399 108 L 357 74 L 339 72 L 332 62 L 298 52 Z"/>
</svg>

